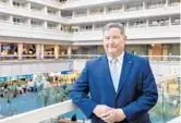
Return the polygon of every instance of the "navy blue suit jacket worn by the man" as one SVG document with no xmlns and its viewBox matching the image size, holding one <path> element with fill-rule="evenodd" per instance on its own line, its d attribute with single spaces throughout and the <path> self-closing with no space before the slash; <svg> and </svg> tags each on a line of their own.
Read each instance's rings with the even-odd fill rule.
<svg viewBox="0 0 181 123">
<path fill-rule="evenodd" d="M 156 104 L 158 93 L 149 62 L 125 51 L 117 93 L 104 54 L 86 62 L 70 97 L 93 123 L 104 123 L 93 113 L 96 104 L 122 108 L 126 119 L 120 123 L 150 123 L 147 112 Z"/>
</svg>

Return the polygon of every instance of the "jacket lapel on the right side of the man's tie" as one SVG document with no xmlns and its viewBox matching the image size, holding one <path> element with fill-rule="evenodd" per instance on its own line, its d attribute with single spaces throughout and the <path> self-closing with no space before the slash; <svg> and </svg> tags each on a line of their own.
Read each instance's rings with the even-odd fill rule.
<svg viewBox="0 0 181 123">
<path fill-rule="evenodd" d="M 129 75 L 131 65 L 133 64 L 133 61 L 131 60 L 131 54 L 128 53 L 126 51 L 124 52 L 124 58 L 123 58 L 123 64 L 122 64 L 122 71 L 121 71 L 121 75 L 120 75 L 120 82 L 119 82 L 119 86 L 118 86 L 118 91 L 117 91 L 117 96 L 119 95 L 119 93 L 122 89 L 122 86 Z"/>
</svg>

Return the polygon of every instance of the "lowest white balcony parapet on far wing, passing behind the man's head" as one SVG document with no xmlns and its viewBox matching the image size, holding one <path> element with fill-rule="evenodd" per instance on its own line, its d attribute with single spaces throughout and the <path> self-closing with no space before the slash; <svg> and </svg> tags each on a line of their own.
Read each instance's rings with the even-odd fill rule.
<svg viewBox="0 0 181 123">
<path fill-rule="evenodd" d="M 136 28 L 125 28 L 125 34 L 128 36 L 129 44 L 136 44 L 133 39 L 148 39 L 148 38 L 176 38 L 180 37 L 179 34 L 179 25 L 174 26 L 145 26 L 145 27 L 136 27 Z M 74 33 L 74 40 L 80 42 L 89 41 L 90 44 L 99 42 L 102 40 L 102 30 L 92 29 L 92 30 L 81 30 Z M 132 41 L 131 41 L 132 40 Z M 170 39 L 170 42 L 171 39 Z M 179 40 L 178 40 L 179 42 Z M 140 42 L 143 44 L 143 42 Z M 145 44 L 149 44 L 148 41 Z M 150 42 L 152 44 L 152 42 Z"/>
</svg>

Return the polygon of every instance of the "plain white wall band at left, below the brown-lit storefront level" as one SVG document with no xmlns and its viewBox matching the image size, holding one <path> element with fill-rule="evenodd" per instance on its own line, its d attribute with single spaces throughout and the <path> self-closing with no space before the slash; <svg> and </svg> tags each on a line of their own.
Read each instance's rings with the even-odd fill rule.
<svg viewBox="0 0 181 123">
<path fill-rule="evenodd" d="M 73 70 L 70 60 L 0 62 L 0 76 L 26 75 Z"/>
</svg>

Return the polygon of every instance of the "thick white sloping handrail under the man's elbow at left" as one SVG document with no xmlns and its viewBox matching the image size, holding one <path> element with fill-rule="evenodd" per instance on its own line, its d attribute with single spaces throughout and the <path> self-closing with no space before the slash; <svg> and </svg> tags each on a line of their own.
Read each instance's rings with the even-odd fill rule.
<svg viewBox="0 0 181 123">
<path fill-rule="evenodd" d="M 26 113 L 13 115 L 3 120 L 0 123 L 39 123 L 47 119 L 58 116 L 60 114 L 75 110 L 76 107 L 71 100 L 56 103 L 41 109 L 36 109 Z"/>
</svg>

